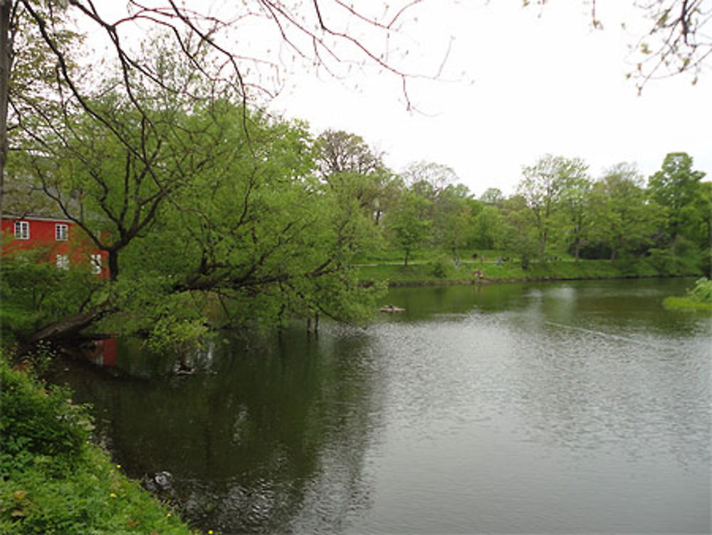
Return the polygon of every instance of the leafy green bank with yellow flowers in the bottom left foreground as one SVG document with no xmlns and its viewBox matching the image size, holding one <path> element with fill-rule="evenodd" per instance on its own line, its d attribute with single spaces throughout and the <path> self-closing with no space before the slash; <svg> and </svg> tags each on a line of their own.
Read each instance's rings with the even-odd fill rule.
<svg viewBox="0 0 712 535">
<path fill-rule="evenodd" d="M 0 533 L 190 534 L 89 442 L 68 397 L 0 362 Z"/>
</svg>

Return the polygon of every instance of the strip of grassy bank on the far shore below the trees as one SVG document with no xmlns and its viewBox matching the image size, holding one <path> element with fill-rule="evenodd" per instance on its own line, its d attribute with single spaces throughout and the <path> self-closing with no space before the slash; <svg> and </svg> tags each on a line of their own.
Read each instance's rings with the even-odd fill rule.
<svg viewBox="0 0 712 535">
<path fill-rule="evenodd" d="M 461 261 L 440 258 L 402 264 L 375 262 L 359 266 L 363 281 L 387 281 L 391 286 L 407 284 L 468 284 L 473 281 L 499 282 L 519 280 L 612 279 L 619 277 L 656 276 L 644 262 L 622 264 L 609 260 L 560 259 L 545 265 L 532 264 L 523 269 L 514 261 Z"/>
</svg>

